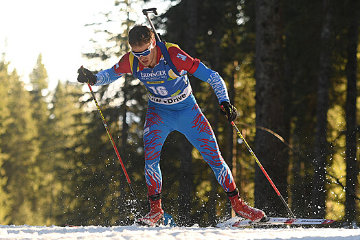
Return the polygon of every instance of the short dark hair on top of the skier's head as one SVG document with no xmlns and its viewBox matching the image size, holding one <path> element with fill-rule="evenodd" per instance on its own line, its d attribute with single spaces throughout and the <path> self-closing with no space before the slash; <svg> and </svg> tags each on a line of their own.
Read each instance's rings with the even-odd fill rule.
<svg viewBox="0 0 360 240">
<path fill-rule="evenodd" d="M 140 46 L 150 43 L 153 38 L 155 38 L 153 31 L 143 25 L 135 25 L 128 32 L 128 44 L 130 46 Z"/>
</svg>

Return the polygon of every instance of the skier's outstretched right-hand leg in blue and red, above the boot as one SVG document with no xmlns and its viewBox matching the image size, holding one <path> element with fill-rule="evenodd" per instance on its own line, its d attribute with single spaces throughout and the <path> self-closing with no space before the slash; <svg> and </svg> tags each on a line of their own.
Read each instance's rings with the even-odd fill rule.
<svg viewBox="0 0 360 240">
<path fill-rule="evenodd" d="M 207 121 L 199 106 L 194 105 L 188 110 L 181 112 L 178 130 L 199 150 L 201 156 L 210 165 L 215 173 L 216 180 L 221 184 L 225 192 L 236 189 L 232 172 L 225 163 L 210 123 Z"/>
</svg>

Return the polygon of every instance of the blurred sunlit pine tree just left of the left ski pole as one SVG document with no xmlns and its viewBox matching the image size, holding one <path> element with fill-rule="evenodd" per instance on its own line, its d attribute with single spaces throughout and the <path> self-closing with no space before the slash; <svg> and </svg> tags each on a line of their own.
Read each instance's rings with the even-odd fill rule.
<svg viewBox="0 0 360 240">
<path fill-rule="evenodd" d="M 89 117 L 79 99 L 78 84 L 58 82 L 51 100 L 49 126 L 52 134 L 47 139 L 47 167 L 53 173 L 50 217 L 59 225 L 69 224 L 69 219 L 81 215 L 82 200 L 76 197 L 82 184 L 82 167 L 91 146 L 86 144 Z M 72 223 L 74 224 L 74 222 Z"/>
</svg>

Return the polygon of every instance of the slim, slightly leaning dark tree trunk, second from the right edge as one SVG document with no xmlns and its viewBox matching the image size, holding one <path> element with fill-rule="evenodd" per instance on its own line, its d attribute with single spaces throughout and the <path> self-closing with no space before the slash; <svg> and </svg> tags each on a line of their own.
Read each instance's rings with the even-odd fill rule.
<svg viewBox="0 0 360 240">
<path fill-rule="evenodd" d="M 333 15 L 330 11 L 330 0 L 323 1 L 324 22 L 322 25 L 322 49 L 319 59 L 319 75 L 317 78 L 316 136 L 315 160 L 312 192 L 312 208 L 314 217 L 325 217 L 326 199 L 326 159 L 328 142 L 326 140 L 328 114 L 328 88 L 330 82 L 330 37 Z"/>
</svg>

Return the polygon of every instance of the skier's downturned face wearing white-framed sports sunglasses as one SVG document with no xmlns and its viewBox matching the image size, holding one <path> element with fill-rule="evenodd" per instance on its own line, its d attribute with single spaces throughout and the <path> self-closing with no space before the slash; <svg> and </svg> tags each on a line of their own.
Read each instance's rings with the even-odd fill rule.
<svg viewBox="0 0 360 240">
<path fill-rule="evenodd" d="M 139 59 L 144 67 L 155 67 L 156 64 L 156 41 L 155 38 L 150 43 L 139 46 L 131 46 L 133 55 Z"/>
</svg>

